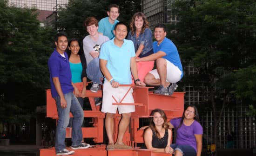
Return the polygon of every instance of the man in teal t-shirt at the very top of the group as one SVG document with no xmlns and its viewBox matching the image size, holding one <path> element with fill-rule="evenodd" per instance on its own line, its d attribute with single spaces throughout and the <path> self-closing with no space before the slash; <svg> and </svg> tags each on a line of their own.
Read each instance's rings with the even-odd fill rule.
<svg viewBox="0 0 256 156">
<path fill-rule="evenodd" d="M 113 39 L 115 37 L 113 30 L 115 28 L 116 23 L 119 21 L 116 20 L 119 16 L 119 6 L 116 4 L 110 4 L 108 6 L 108 17 L 105 17 L 99 22 L 98 32 L 104 36 L 108 36 L 109 39 Z"/>
</svg>

